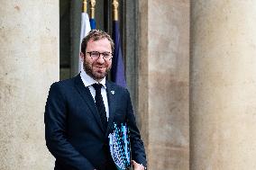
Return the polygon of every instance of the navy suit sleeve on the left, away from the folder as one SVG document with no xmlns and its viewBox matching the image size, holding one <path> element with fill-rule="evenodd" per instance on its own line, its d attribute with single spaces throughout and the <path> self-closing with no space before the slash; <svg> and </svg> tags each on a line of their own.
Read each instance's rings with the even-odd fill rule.
<svg viewBox="0 0 256 170">
<path fill-rule="evenodd" d="M 71 169 L 95 169 L 87 158 L 83 157 L 67 139 L 66 103 L 67 101 L 64 95 L 61 94 L 58 83 L 51 85 L 44 112 L 46 146 L 60 164 Z"/>
</svg>

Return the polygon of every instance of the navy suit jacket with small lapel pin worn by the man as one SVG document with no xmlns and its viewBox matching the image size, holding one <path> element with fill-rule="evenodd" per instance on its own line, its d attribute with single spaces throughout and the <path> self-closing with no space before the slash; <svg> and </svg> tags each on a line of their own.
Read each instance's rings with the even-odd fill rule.
<svg viewBox="0 0 256 170">
<path fill-rule="evenodd" d="M 114 122 L 128 123 L 132 158 L 146 166 L 129 92 L 106 81 L 106 93 L 109 120 L 104 132 L 93 96 L 80 75 L 50 86 L 44 113 L 45 139 L 50 153 L 56 158 L 56 170 L 114 170 L 108 146 L 108 134 L 113 131 Z"/>
</svg>

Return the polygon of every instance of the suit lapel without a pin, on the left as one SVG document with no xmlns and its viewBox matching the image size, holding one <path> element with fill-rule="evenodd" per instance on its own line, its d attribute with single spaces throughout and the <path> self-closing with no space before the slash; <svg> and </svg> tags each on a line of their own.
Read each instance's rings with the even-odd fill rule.
<svg viewBox="0 0 256 170">
<path fill-rule="evenodd" d="M 96 112 L 96 103 L 94 102 L 93 96 L 91 95 L 89 88 L 83 84 L 80 75 L 75 77 L 75 86 L 78 90 L 78 93 L 81 94 L 84 102 L 87 104 L 87 107 L 90 109 L 91 113 L 95 117 L 98 126 L 101 128 L 101 130 L 103 130 L 103 125 L 100 121 L 100 116 Z"/>
</svg>

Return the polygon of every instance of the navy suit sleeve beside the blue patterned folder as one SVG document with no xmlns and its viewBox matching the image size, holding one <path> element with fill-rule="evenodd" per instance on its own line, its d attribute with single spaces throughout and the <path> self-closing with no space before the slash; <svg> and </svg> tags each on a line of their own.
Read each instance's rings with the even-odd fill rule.
<svg viewBox="0 0 256 170">
<path fill-rule="evenodd" d="M 133 113 L 133 105 L 131 102 L 130 94 L 127 90 L 127 123 L 130 128 L 130 139 L 131 139 L 131 148 L 132 148 L 132 159 L 137 163 L 147 166 L 145 148 L 141 139 L 140 131 L 136 125 L 135 116 Z"/>
</svg>

